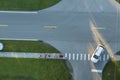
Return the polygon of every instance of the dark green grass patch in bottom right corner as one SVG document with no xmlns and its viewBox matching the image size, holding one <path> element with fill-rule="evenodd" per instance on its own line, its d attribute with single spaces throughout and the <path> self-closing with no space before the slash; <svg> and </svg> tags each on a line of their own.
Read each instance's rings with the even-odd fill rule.
<svg viewBox="0 0 120 80">
<path fill-rule="evenodd" d="M 120 80 L 120 61 L 109 61 L 103 71 L 102 80 Z"/>
</svg>

